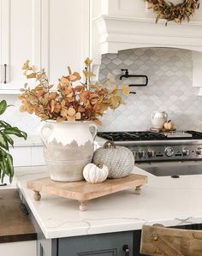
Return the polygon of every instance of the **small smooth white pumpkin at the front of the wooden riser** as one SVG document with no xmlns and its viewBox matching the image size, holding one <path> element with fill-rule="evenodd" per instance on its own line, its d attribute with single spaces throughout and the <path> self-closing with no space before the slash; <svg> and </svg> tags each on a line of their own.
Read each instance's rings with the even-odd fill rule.
<svg viewBox="0 0 202 256">
<path fill-rule="evenodd" d="M 103 164 L 86 164 L 83 169 L 83 176 L 86 182 L 99 183 L 104 182 L 109 174 L 108 167 Z"/>
</svg>

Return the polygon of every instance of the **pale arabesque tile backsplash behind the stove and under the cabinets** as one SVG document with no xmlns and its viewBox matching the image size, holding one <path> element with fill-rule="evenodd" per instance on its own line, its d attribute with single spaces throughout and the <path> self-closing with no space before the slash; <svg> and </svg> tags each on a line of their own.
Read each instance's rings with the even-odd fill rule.
<svg viewBox="0 0 202 256">
<path fill-rule="evenodd" d="M 121 88 L 128 83 L 141 83 L 144 80 L 122 79 L 121 68 L 128 68 L 129 74 L 146 74 L 148 86 L 133 87 L 137 94 L 124 98 L 126 104 L 117 110 L 109 110 L 102 118 L 99 130 L 146 130 L 151 127 L 151 113 L 164 110 L 175 122 L 178 129 L 195 129 L 202 131 L 202 97 L 198 88 L 192 86 L 192 52 L 169 48 L 140 48 L 120 51 L 118 54 L 106 54 L 102 58 L 99 80 L 106 79 L 107 74 L 115 74 Z M 39 118 L 27 113 L 20 113 L 20 101 L 15 95 L 2 96 L 9 107 L 3 116 L 5 120 L 28 134 L 36 134 Z"/>
</svg>

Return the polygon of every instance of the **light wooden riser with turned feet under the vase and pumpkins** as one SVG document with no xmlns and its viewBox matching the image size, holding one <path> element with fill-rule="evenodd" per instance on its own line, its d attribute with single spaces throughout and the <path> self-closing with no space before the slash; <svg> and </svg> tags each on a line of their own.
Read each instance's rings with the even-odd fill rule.
<svg viewBox="0 0 202 256">
<path fill-rule="evenodd" d="M 128 188 L 134 188 L 140 193 L 140 187 L 147 182 L 147 176 L 131 174 L 121 179 L 107 179 L 105 182 L 91 184 L 82 182 L 54 182 L 43 178 L 27 182 L 27 188 L 34 191 L 34 199 L 41 198 L 40 193 L 51 193 L 80 202 L 80 211 L 87 210 L 87 201 L 110 193 L 116 193 Z"/>
</svg>

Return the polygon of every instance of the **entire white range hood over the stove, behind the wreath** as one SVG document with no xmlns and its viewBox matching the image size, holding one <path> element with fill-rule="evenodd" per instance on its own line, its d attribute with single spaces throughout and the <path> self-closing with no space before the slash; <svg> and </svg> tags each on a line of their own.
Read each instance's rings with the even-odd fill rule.
<svg viewBox="0 0 202 256">
<path fill-rule="evenodd" d="M 98 70 L 103 54 L 140 47 L 197 51 L 193 54 L 193 86 L 202 86 L 202 7 L 190 22 L 169 22 L 165 27 L 165 21 L 155 23 L 155 14 L 143 0 L 92 0 L 94 68 Z"/>
</svg>

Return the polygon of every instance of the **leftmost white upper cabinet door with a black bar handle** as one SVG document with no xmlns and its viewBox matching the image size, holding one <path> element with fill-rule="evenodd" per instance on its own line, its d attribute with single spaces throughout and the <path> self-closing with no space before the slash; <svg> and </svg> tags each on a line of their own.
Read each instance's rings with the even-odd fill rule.
<svg viewBox="0 0 202 256">
<path fill-rule="evenodd" d="M 37 2 L 38 0 L 1 0 L 3 92 L 19 92 L 26 80 L 22 74 L 22 64 L 27 59 L 35 61 Z"/>
</svg>

